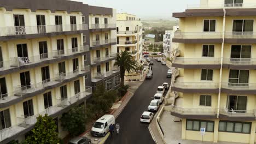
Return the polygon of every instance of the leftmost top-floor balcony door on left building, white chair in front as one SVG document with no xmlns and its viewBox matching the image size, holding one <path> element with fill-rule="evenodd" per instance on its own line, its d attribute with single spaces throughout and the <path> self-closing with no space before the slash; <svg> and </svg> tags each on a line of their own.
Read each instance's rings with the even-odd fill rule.
<svg viewBox="0 0 256 144">
<path fill-rule="evenodd" d="M 14 26 L 16 34 L 26 34 L 24 15 L 14 14 Z"/>
</svg>

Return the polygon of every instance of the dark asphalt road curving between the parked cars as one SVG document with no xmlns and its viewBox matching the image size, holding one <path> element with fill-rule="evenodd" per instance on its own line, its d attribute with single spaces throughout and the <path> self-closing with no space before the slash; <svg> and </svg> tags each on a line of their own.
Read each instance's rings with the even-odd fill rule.
<svg viewBox="0 0 256 144">
<path fill-rule="evenodd" d="M 124 108 L 123 112 L 118 116 L 116 123 L 120 124 L 120 133 L 109 136 L 105 142 L 107 144 L 151 144 L 154 143 L 152 136 L 148 130 L 147 123 L 139 122 L 143 111 L 147 111 L 150 101 L 153 99 L 158 86 L 163 82 L 170 83 L 170 79 L 166 78 L 168 68 L 161 65 L 161 62 L 152 60 L 153 79 L 145 80 L 137 89 L 129 103 Z"/>
</svg>

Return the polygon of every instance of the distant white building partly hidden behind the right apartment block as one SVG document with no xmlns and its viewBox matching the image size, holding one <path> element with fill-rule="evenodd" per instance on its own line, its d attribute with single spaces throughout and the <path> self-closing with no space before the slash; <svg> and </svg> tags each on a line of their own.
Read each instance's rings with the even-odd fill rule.
<svg viewBox="0 0 256 144">
<path fill-rule="evenodd" d="M 162 45 L 164 48 L 164 57 L 170 58 L 179 56 L 178 51 L 178 43 L 172 43 L 172 38 L 174 36 L 174 32 L 179 30 L 179 26 L 173 26 L 173 30 L 165 31 L 164 35 L 164 44 Z"/>
</svg>

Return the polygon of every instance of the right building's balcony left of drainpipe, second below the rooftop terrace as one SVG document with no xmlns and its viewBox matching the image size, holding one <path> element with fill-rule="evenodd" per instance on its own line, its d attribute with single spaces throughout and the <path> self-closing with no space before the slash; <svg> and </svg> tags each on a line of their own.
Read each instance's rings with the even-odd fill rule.
<svg viewBox="0 0 256 144">
<path fill-rule="evenodd" d="M 201 57 L 201 58 L 184 58 L 174 57 L 172 67 L 186 69 L 220 69 L 220 58 Z"/>
</svg>

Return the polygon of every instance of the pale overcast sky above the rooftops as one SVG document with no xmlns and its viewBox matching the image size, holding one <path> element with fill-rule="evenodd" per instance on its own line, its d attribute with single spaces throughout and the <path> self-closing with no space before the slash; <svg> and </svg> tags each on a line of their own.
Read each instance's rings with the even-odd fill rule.
<svg viewBox="0 0 256 144">
<path fill-rule="evenodd" d="M 89 5 L 117 9 L 117 13 L 131 13 L 141 18 L 171 18 L 173 12 L 181 12 L 188 4 L 200 0 L 72 0 Z"/>
</svg>

